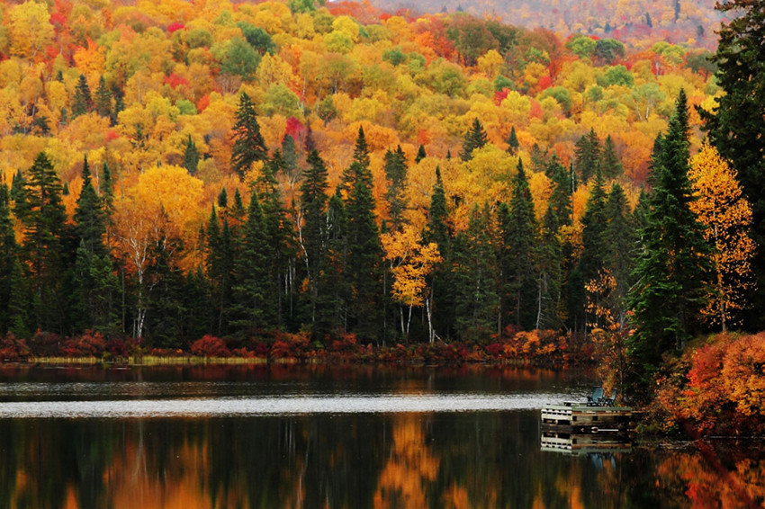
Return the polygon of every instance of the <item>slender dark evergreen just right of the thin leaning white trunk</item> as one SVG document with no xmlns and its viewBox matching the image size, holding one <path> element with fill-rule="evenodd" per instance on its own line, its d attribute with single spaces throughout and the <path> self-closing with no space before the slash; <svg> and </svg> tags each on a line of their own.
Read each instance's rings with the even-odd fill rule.
<svg viewBox="0 0 765 509">
<path fill-rule="evenodd" d="M 319 299 L 320 274 L 327 270 L 327 166 L 315 149 L 308 156 L 310 165 L 301 186 L 302 248 L 308 274 L 308 298 L 311 323 L 316 322 L 316 306 Z"/>
</svg>

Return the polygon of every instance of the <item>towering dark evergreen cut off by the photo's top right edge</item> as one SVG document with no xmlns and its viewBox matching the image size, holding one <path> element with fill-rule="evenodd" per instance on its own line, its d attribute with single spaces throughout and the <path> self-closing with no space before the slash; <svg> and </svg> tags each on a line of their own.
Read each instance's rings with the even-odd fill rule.
<svg viewBox="0 0 765 509">
<path fill-rule="evenodd" d="M 713 112 L 700 111 L 705 129 L 720 156 L 739 172 L 745 198 L 752 204 L 752 238 L 765 245 L 765 2 L 731 0 L 716 7 L 730 22 L 723 23 L 713 61 L 716 81 L 725 91 Z M 753 261 L 757 293 L 747 327 L 765 326 L 765 257 Z"/>
</svg>

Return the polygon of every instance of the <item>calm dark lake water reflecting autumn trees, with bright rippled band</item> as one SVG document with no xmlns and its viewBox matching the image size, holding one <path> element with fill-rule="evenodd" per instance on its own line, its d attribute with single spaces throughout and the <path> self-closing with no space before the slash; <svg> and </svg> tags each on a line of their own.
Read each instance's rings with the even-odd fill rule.
<svg viewBox="0 0 765 509">
<path fill-rule="evenodd" d="M 761 443 L 540 451 L 552 371 L 0 370 L 0 507 L 739 507 Z"/>
</svg>

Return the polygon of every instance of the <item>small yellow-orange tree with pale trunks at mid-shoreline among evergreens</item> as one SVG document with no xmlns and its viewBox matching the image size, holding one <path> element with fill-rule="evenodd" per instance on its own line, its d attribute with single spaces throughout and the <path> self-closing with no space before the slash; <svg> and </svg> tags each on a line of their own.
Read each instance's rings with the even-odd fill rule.
<svg viewBox="0 0 765 509">
<path fill-rule="evenodd" d="M 409 339 L 412 308 L 425 304 L 428 316 L 428 341 L 433 343 L 433 322 L 428 299 L 428 275 L 433 266 L 442 261 L 436 243 L 424 244 L 419 232 L 410 225 L 401 231 L 383 234 L 380 238 L 385 260 L 391 263 L 392 298 L 401 304 L 401 333 Z M 409 308 L 404 321 L 404 307 Z"/>
</svg>

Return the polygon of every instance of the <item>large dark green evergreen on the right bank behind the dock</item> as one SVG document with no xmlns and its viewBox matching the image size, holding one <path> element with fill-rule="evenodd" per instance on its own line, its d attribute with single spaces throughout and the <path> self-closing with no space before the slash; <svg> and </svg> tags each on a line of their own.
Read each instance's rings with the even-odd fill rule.
<svg viewBox="0 0 765 509">
<path fill-rule="evenodd" d="M 709 246 L 689 209 L 693 200 L 688 178 L 689 123 L 686 95 L 680 91 L 666 136 L 653 160 L 653 195 L 643 249 L 635 268 L 629 300 L 635 334 L 627 344 L 633 369 L 647 383 L 662 353 L 680 349 L 698 330 Z"/>
</svg>

